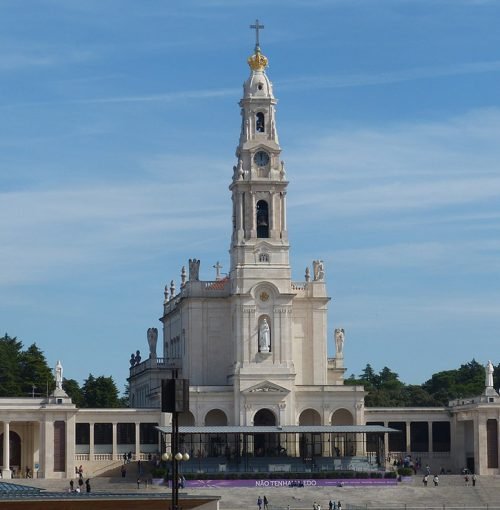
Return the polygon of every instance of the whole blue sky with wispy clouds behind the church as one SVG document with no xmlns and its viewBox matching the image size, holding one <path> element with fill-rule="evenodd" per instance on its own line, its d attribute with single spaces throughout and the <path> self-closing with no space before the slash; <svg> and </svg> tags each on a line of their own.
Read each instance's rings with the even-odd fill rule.
<svg viewBox="0 0 500 510">
<path fill-rule="evenodd" d="M 227 269 L 257 17 L 348 374 L 499 363 L 495 0 L 0 0 L 0 334 L 122 388 L 164 285 Z"/>
</svg>

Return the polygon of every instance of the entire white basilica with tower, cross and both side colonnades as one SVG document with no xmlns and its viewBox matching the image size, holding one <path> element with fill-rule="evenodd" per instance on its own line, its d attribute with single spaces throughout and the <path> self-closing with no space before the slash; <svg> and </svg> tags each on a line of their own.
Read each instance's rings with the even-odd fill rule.
<svg viewBox="0 0 500 510">
<path fill-rule="evenodd" d="M 411 455 L 445 472 L 500 474 L 500 397 L 488 374 L 482 395 L 446 407 L 366 408 L 363 387 L 344 385 L 341 328 L 328 357 L 323 261 L 311 261 L 302 281 L 291 278 L 293 168 L 282 157 L 259 28 L 228 171 L 228 274 L 217 264 L 215 280 L 202 281 L 201 261 L 192 258 L 167 285 L 161 327 L 148 329 L 147 344 L 130 359 L 130 408 L 77 409 L 61 386 L 48 399 L 0 399 L 4 477 L 29 466 L 63 478 L 75 465 L 95 476 L 127 452 L 136 460 L 161 455 L 171 432 L 162 380 L 174 374 L 189 381 L 179 425 L 194 471 L 384 470 Z"/>
</svg>

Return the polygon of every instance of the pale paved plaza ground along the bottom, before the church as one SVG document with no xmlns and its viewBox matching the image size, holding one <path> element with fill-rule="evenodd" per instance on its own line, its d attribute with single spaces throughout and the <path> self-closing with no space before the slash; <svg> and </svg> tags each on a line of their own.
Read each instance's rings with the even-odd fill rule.
<svg viewBox="0 0 500 510">
<path fill-rule="evenodd" d="M 49 491 L 64 491 L 69 487 L 69 480 L 13 480 Z M 95 478 L 91 480 L 92 490 L 98 492 L 136 493 L 152 492 L 165 493 L 168 508 L 169 489 L 164 487 L 141 487 L 130 480 L 122 481 L 115 478 Z M 266 496 L 269 500 L 269 510 L 290 506 L 291 510 L 312 510 L 316 501 L 322 510 L 328 509 L 328 501 L 335 499 L 342 502 L 342 509 L 349 508 L 498 508 L 500 509 L 500 477 L 479 477 L 476 487 L 465 486 L 463 478 L 458 475 L 440 477 L 438 487 L 424 487 L 421 477 L 414 478 L 412 483 L 399 484 L 393 487 L 327 487 L 317 488 L 230 488 L 230 489 L 189 489 L 181 494 L 193 496 L 220 496 L 221 510 L 252 509 L 258 510 L 258 496 Z"/>
</svg>

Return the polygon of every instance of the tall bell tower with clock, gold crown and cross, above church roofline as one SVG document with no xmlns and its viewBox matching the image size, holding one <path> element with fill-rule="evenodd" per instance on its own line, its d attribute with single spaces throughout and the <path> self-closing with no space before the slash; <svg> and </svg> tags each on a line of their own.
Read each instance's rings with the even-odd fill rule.
<svg viewBox="0 0 500 510">
<path fill-rule="evenodd" d="M 276 99 L 266 75 L 268 59 L 259 44 L 248 58 L 250 76 L 243 84 L 237 164 L 229 186 L 233 201 L 230 275 L 233 291 L 247 292 L 257 281 L 272 281 L 290 291 L 286 226 L 285 164 L 276 129 Z"/>
</svg>

